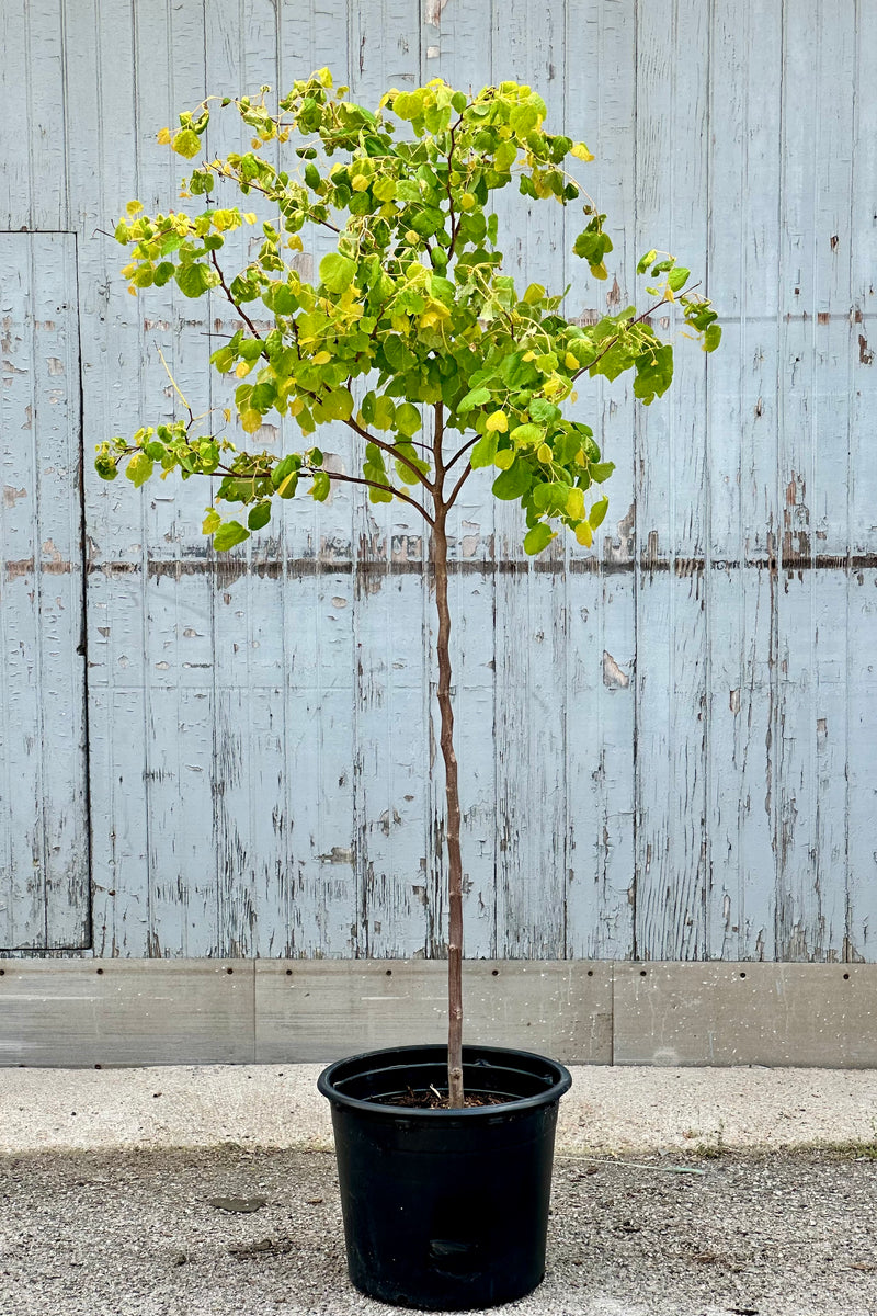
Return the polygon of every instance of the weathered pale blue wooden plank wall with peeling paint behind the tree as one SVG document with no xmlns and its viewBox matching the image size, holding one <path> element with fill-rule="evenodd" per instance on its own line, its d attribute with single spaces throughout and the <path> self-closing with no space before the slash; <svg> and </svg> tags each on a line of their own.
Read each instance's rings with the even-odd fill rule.
<svg viewBox="0 0 877 1316">
<path fill-rule="evenodd" d="M 130 297 L 109 236 L 131 197 L 174 204 L 156 130 L 322 64 L 367 104 L 530 82 L 597 153 L 615 249 L 594 284 L 572 211 L 501 196 L 511 272 L 588 320 L 667 247 L 726 326 L 648 411 L 582 391 L 618 467 L 594 553 L 529 562 L 467 487 L 467 954 L 877 959 L 873 0 L 5 0 L 3 954 L 442 953 L 421 526 L 335 492 L 217 561 L 205 488 L 92 471 L 172 415 L 158 347 L 224 403 L 229 308 Z"/>
</svg>

